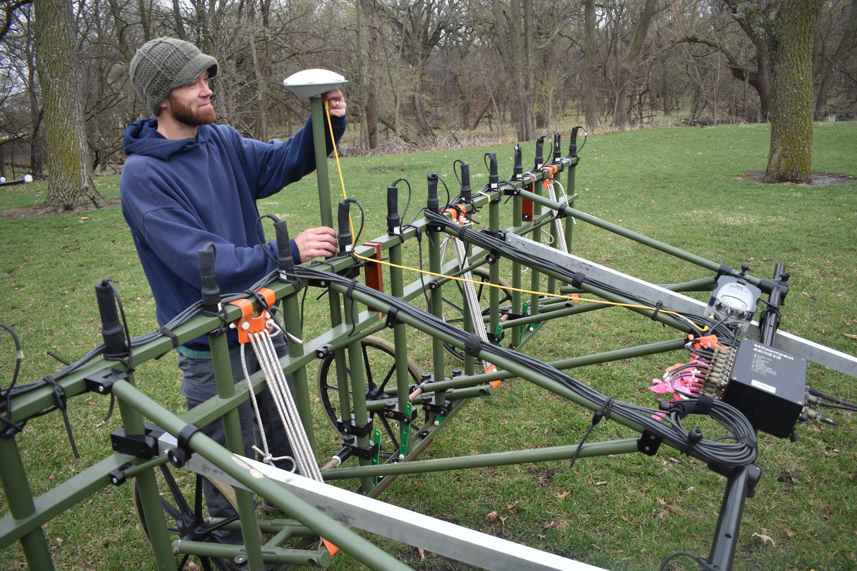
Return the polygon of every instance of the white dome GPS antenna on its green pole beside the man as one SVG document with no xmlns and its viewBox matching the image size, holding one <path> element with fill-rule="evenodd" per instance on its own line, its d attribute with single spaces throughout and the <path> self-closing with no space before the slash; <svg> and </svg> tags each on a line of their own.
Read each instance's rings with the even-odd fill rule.
<svg viewBox="0 0 857 571">
<path fill-rule="evenodd" d="M 328 69 L 304 69 L 283 80 L 298 98 L 309 98 L 309 109 L 313 117 L 325 116 L 321 94 L 348 83 L 340 74 Z M 313 121 L 313 146 L 315 147 L 315 175 L 319 185 L 321 225 L 333 228 L 333 209 L 330 204 L 330 177 L 327 174 L 327 146 L 324 121 Z"/>
</svg>

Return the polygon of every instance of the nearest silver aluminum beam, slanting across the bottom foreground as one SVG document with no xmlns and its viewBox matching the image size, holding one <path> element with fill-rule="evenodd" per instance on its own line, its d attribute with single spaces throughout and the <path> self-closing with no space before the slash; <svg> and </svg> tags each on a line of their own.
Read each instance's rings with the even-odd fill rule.
<svg viewBox="0 0 857 571">
<path fill-rule="evenodd" d="M 166 454 L 167 450 L 175 446 L 176 438 L 169 433 L 160 437 L 160 454 Z M 285 472 L 241 455 L 232 455 L 232 458 L 256 478 L 267 476 L 273 479 L 345 525 L 451 557 L 476 568 L 488 571 L 606 571 Z M 199 454 L 192 455 L 184 467 L 246 489 Z"/>
</svg>

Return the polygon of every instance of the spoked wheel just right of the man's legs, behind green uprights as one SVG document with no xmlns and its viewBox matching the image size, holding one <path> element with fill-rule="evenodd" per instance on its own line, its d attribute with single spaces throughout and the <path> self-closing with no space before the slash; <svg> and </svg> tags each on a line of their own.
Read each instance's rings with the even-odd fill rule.
<svg viewBox="0 0 857 571">
<path fill-rule="evenodd" d="M 393 343 L 380 337 L 365 336 L 360 340 L 363 349 L 363 370 L 366 375 L 366 400 L 377 401 L 384 396 L 384 389 L 396 383 L 396 348 Z M 408 357 L 408 374 L 414 383 L 419 383 L 423 376 L 422 370 Z M 351 377 L 351 369 L 348 370 Z M 319 396 L 324 406 L 327 418 L 336 427 L 339 413 L 339 385 L 336 378 L 336 366 L 333 354 L 327 354 L 318 372 Z M 351 391 L 349 391 L 351 395 Z M 351 415 L 346 415 L 346 419 Z M 381 456 L 389 458 L 399 454 L 399 421 L 388 419 L 377 412 L 372 413 L 373 425 L 381 430 Z M 379 425 L 380 424 L 380 425 Z M 339 430 L 339 429 L 338 429 Z M 345 436 L 345 435 L 343 435 Z"/>
</svg>

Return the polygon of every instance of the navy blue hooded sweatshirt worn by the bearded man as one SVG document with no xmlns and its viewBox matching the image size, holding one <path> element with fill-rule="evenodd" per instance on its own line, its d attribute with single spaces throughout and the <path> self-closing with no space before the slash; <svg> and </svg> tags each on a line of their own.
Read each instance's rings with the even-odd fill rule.
<svg viewBox="0 0 857 571">
<path fill-rule="evenodd" d="M 333 117 L 337 140 L 345 117 Z M 198 251 L 216 247 L 215 272 L 224 294 L 249 288 L 276 267 L 277 242 L 256 237 L 256 200 L 278 193 L 315 170 L 312 117 L 291 139 L 263 143 L 225 125 L 202 125 L 196 139 L 167 140 L 157 118 L 125 129 L 128 158 L 119 188 L 122 211 L 164 325 L 201 299 Z M 326 129 L 327 133 L 327 129 Z M 333 144 L 327 137 L 327 152 Z M 260 228 L 261 232 L 261 228 Z M 267 250 L 267 253 L 266 253 Z M 300 254 L 291 241 L 297 263 Z M 230 346 L 237 345 L 231 332 Z M 207 337 L 185 348 L 207 351 Z M 189 353 L 189 352 L 188 352 Z"/>
</svg>

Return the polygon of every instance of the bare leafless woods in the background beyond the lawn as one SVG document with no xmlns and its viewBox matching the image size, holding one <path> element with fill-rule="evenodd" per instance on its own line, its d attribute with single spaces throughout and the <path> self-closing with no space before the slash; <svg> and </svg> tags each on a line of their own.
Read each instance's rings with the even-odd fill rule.
<svg viewBox="0 0 857 571">
<path fill-rule="evenodd" d="M 54 130 L 68 138 L 82 118 L 86 160 L 115 170 L 123 128 L 147 116 L 130 59 L 163 35 L 218 58 L 219 122 L 261 140 L 306 118 L 286 76 L 345 75 L 348 154 L 533 140 L 560 122 L 590 131 L 764 122 L 770 52 L 741 15 L 752 8 L 768 26 L 787 1 L 3 0 L 0 175 L 45 170 L 45 85 L 62 83 L 55 67 L 68 63 L 73 80 L 57 104 L 69 126 Z M 853 120 L 857 9 L 852 0 L 805 3 L 820 5 L 814 118 Z M 38 24 L 47 21 L 70 42 L 43 39 L 39 58 Z"/>
</svg>

